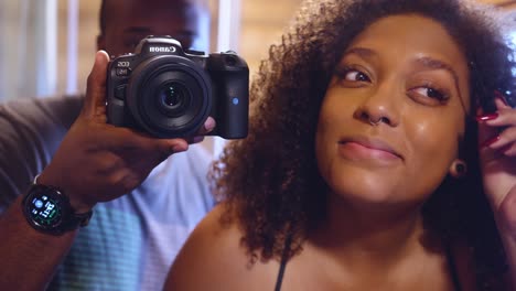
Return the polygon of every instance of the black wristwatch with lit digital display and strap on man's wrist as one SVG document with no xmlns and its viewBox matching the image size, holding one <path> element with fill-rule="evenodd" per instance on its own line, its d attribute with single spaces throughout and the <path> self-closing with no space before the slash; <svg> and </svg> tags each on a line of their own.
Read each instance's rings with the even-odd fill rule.
<svg viewBox="0 0 516 291">
<path fill-rule="evenodd" d="M 63 192 L 54 186 L 31 184 L 22 202 L 23 214 L 34 229 L 62 235 L 86 226 L 93 212 L 77 214 Z"/>
</svg>

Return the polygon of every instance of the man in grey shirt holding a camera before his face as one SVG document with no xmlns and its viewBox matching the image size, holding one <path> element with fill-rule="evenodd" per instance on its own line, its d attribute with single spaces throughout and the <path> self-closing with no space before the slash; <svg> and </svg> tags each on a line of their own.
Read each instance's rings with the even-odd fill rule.
<svg viewBox="0 0 516 291">
<path fill-rule="evenodd" d="M 98 47 L 128 53 L 148 34 L 171 35 L 189 47 L 207 37 L 205 18 L 187 0 L 105 0 Z M 159 290 L 189 233 L 213 206 L 205 181 L 211 158 L 202 148 L 106 123 L 107 62 L 97 53 L 85 99 L 0 107 L 1 290 Z M 208 118 L 200 134 L 214 126 Z M 74 213 L 45 228 L 47 220 L 34 223 L 22 205 L 36 207 L 55 194 L 52 187 Z M 39 218 L 62 205 L 51 206 Z"/>
</svg>

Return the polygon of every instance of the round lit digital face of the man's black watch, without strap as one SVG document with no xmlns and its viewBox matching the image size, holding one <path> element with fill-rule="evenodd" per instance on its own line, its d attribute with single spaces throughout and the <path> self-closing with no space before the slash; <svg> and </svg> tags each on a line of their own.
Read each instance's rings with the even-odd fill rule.
<svg viewBox="0 0 516 291">
<path fill-rule="evenodd" d="M 63 222 L 63 196 L 44 187 L 34 187 L 25 201 L 25 214 L 43 229 L 53 229 Z"/>
</svg>

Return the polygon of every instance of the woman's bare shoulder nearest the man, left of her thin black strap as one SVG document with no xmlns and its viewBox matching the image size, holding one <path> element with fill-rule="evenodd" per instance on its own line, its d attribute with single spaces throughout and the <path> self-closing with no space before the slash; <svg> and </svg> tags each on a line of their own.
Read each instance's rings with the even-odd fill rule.
<svg viewBox="0 0 516 291">
<path fill-rule="evenodd" d="M 273 284 L 276 261 L 251 263 L 238 222 L 223 222 L 228 211 L 222 203 L 197 225 L 170 270 L 165 290 L 262 290 L 271 279 Z"/>
</svg>

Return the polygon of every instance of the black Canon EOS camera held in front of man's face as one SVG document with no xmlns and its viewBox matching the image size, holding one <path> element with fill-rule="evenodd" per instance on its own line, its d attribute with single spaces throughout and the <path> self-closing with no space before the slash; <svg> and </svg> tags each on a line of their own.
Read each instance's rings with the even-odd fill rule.
<svg viewBox="0 0 516 291">
<path fill-rule="evenodd" d="M 183 51 L 170 36 L 147 36 L 135 53 L 114 58 L 107 76 L 107 118 L 158 138 L 195 136 L 208 116 L 209 136 L 247 136 L 249 68 L 234 52 Z"/>
</svg>

